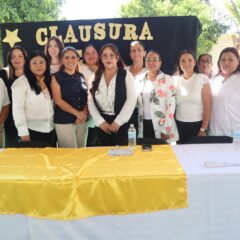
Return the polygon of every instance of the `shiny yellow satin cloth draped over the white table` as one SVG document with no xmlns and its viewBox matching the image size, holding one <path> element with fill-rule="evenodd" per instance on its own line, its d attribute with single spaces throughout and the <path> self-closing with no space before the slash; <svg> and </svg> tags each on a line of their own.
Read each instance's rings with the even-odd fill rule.
<svg viewBox="0 0 240 240">
<path fill-rule="evenodd" d="M 120 157 L 108 149 L 0 152 L 0 213 L 78 219 L 186 207 L 186 175 L 170 146 Z"/>
</svg>

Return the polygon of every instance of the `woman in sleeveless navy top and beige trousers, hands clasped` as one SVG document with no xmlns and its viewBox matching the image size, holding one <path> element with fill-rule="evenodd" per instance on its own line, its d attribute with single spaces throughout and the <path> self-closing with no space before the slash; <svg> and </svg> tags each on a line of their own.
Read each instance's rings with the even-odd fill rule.
<svg viewBox="0 0 240 240">
<path fill-rule="evenodd" d="M 78 71 L 79 56 L 75 48 L 66 47 L 61 54 L 60 71 L 52 76 L 51 88 L 56 104 L 54 123 L 59 147 L 85 147 L 87 141 L 87 86 Z"/>
</svg>

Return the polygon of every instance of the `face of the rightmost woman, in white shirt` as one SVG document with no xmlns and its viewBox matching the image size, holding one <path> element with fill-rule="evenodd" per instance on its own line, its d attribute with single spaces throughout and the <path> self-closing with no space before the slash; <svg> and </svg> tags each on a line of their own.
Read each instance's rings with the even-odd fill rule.
<svg viewBox="0 0 240 240">
<path fill-rule="evenodd" d="M 225 52 L 219 60 L 221 72 L 225 76 L 232 75 L 239 66 L 239 59 L 232 52 Z"/>
</svg>

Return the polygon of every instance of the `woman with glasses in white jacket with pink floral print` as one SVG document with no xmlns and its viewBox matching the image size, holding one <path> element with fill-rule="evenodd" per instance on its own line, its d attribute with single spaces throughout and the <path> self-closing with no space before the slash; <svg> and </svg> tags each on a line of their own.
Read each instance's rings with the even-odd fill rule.
<svg viewBox="0 0 240 240">
<path fill-rule="evenodd" d="M 156 50 L 148 52 L 145 62 L 147 73 L 141 81 L 139 137 L 175 142 L 178 140 L 178 132 L 174 121 L 173 79 L 160 70 L 162 59 Z"/>
</svg>

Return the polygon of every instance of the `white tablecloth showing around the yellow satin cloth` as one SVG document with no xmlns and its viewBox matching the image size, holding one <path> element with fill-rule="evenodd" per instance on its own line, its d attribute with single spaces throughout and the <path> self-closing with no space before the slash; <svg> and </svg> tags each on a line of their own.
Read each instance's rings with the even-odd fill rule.
<svg viewBox="0 0 240 240">
<path fill-rule="evenodd" d="M 72 221 L 1 215 L 0 239 L 239 240 L 240 167 L 206 168 L 204 162 L 240 163 L 240 149 L 196 144 L 173 150 L 187 173 L 188 208 Z"/>
</svg>

